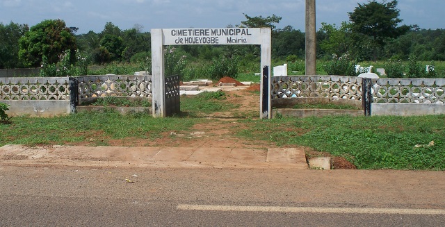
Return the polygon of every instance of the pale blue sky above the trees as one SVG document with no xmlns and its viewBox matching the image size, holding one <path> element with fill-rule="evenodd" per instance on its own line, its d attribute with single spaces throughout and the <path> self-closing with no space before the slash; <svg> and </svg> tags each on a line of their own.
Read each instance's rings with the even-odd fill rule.
<svg viewBox="0 0 445 227">
<path fill-rule="evenodd" d="M 383 0 L 378 0 L 382 2 Z M 348 21 L 357 3 L 368 0 L 316 0 L 317 31 L 321 23 Z M 398 0 L 402 24 L 445 28 L 444 0 Z M 77 35 L 100 33 L 107 22 L 121 30 L 137 25 L 152 28 L 225 28 L 250 17 L 282 17 L 277 28 L 292 26 L 305 31 L 305 0 L 0 0 L 0 23 L 34 26 L 45 19 L 62 19 Z"/>
</svg>

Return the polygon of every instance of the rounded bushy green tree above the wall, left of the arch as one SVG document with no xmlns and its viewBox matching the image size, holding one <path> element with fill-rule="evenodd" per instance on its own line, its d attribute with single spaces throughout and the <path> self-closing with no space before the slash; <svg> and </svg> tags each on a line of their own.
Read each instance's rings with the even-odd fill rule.
<svg viewBox="0 0 445 227">
<path fill-rule="evenodd" d="M 19 40 L 19 59 L 26 66 L 39 67 L 42 57 L 46 56 L 48 63 L 56 63 L 63 51 L 74 53 L 77 49 L 76 37 L 65 22 L 60 19 L 48 19 L 32 26 Z M 73 54 L 70 59 L 75 62 Z"/>
</svg>

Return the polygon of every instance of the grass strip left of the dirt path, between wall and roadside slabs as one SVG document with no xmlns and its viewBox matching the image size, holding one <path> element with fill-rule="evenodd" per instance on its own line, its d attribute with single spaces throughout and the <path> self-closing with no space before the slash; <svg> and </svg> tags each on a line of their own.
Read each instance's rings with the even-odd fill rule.
<svg viewBox="0 0 445 227">
<path fill-rule="evenodd" d="M 0 146 L 5 144 L 70 144 L 101 140 L 153 140 L 163 132 L 187 131 L 196 119 L 153 118 L 145 114 L 125 115 L 115 111 L 79 112 L 51 118 L 15 117 L 13 124 L 0 124 Z M 99 140 L 98 140 L 99 141 Z"/>
</svg>

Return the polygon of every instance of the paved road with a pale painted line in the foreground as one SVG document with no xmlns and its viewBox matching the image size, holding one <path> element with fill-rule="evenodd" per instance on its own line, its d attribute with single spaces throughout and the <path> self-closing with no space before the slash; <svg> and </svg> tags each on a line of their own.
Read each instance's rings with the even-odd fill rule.
<svg viewBox="0 0 445 227">
<path fill-rule="evenodd" d="M 0 226 L 445 226 L 437 171 L 16 166 Z"/>
</svg>

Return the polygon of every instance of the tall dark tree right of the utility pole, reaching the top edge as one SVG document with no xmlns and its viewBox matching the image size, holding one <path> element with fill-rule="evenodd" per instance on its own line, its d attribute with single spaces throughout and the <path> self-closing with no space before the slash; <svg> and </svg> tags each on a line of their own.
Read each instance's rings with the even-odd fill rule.
<svg viewBox="0 0 445 227">
<path fill-rule="evenodd" d="M 353 23 L 352 31 L 355 34 L 355 44 L 360 47 L 360 42 L 364 42 L 366 47 L 371 44 L 373 60 L 378 58 L 378 54 L 385 47 L 386 41 L 405 34 L 410 30 L 410 26 L 398 26 L 401 19 L 398 18 L 400 10 L 397 1 L 383 1 L 379 3 L 375 0 L 366 4 L 358 3 L 354 12 L 348 12 L 349 19 Z"/>
</svg>

